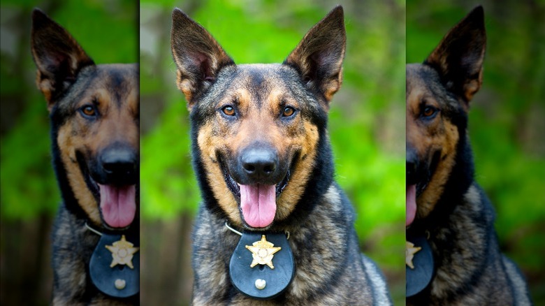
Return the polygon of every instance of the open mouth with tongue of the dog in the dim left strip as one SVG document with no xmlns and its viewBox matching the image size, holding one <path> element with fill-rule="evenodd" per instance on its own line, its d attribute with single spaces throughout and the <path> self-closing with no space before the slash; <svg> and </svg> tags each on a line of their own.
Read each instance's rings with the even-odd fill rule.
<svg viewBox="0 0 545 306">
<path fill-rule="evenodd" d="M 103 224 L 117 230 L 130 226 L 136 216 L 136 184 L 100 184 L 82 156 L 78 156 L 78 163 L 87 187 L 99 203 Z"/>
</svg>

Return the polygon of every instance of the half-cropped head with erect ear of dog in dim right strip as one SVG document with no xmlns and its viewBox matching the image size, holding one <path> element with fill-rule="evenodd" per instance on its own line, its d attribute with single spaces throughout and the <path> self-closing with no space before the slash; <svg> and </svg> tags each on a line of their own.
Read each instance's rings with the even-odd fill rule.
<svg viewBox="0 0 545 306">
<path fill-rule="evenodd" d="M 407 65 L 407 219 L 434 209 L 465 138 L 467 110 L 481 87 L 486 44 L 479 6 L 449 31 L 423 64 Z"/>
</svg>

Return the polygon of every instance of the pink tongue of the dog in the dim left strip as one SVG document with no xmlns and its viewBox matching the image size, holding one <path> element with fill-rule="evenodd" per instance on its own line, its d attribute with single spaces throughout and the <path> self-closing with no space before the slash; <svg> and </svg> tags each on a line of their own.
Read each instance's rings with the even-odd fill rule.
<svg viewBox="0 0 545 306">
<path fill-rule="evenodd" d="M 135 185 L 115 187 L 99 184 L 101 191 L 102 217 L 108 226 L 129 226 L 136 213 Z"/>
</svg>

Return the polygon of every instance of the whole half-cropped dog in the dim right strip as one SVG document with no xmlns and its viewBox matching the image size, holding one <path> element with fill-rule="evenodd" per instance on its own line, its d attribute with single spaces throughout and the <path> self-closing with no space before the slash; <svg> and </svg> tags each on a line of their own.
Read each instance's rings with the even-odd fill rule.
<svg viewBox="0 0 545 306">
<path fill-rule="evenodd" d="M 407 65 L 406 226 L 414 255 L 407 305 L 530 304 L 523 276 L 500 254 L 495 212 L 474 181 L 467 112 L 481 87 L 485 48 L 479 6 L 423 64 Z"/>
</svg>

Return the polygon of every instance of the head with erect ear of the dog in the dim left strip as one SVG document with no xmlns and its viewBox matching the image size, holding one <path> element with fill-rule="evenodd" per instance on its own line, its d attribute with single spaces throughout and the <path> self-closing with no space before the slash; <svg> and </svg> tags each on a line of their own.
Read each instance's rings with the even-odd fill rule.
<svg viewBox="0 0 545 306">
<path fill-rule="evenodd" d="M 136 64 L 95 65 L 80 45 L 34 10 L 36 82 L 48 101 L 63 195 L 96 226 L 126 228 L 138 214 L 139 101 Z"/>
</svg>

